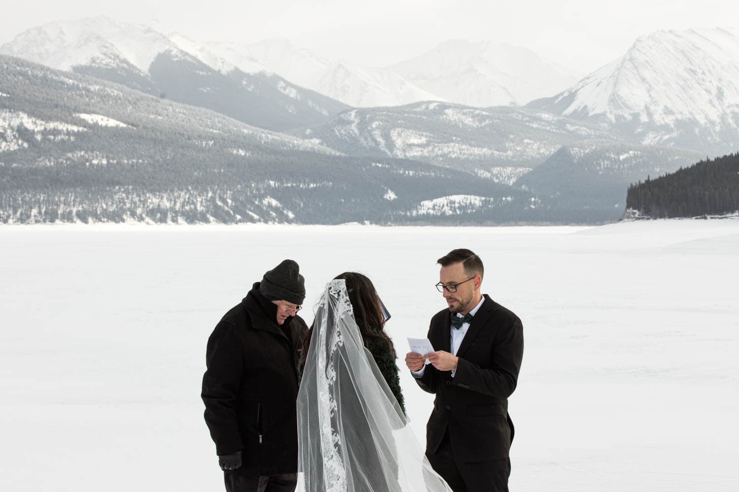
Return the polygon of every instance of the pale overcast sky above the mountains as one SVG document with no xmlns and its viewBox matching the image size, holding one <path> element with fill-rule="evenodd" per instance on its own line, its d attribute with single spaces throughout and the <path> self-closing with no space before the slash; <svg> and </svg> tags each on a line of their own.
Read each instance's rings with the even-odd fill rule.
<svg viewBox="0 0 739 492">
<path fill-rule="evenodd" d="M 326 58 L 385 66 L 440 41 L 506 41 L 588 73 L 655 30 L 726 27 L 739 32 L 739 2 L 729 0 L 181 0 L 4 1 L 0 44 L 50 21 L 108 15 L 157 19 L 198 40 L 287 38 Z"/>
</svg>

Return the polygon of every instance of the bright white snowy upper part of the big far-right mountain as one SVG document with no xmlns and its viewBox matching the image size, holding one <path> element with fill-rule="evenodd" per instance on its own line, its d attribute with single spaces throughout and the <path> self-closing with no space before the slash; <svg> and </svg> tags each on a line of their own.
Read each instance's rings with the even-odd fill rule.
<svg viewBox="0 0 739 492">
<path fill-rule="evenodd" d="M 561 114 L 675 125 L 721 122 L 739 108 L 739 38 L 722 29 L 657 31 L 559 94 Z M 566 103 L 562 104 L 562 103 Z M 558 111 L 559 112 L 559 111 Z"/>
</svg>

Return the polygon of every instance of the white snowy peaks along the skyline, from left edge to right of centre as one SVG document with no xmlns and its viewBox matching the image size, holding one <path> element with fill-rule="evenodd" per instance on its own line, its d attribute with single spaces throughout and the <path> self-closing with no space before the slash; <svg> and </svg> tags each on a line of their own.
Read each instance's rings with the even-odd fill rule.
<svg viewBox="0 0 739 492">
<path fill-rule="evenodd" d="M 327 101 L 317 100 L 315 93 L 353 107 L 425 100 L 521 105 L 566 89 L 581 75 L 510 44 L 448 41 L 395 66 L 367 67 L 328 60 L 279 38 L 253 44 L 201 42 L 159 23 L 126 24 L 104 16 L 45 24 L 0 46 L 2 54 L 55 69 L 84 72 L 93 67 L 98 75 L 104 75 L 101 68 L 124 64 L 125 72 L 134 66 L 137 75 L 144 78 L 151 63 L 165 52 L 178 58 L 188 55 L 222 75 L 238 70 L 246 87 L 257 74 L 271 75 L 273 86 L 282 83 L 289 87 L 287 91 L 300 96 L 287 100 L 285 107 L 296 105 L 295 99 L 304 100 L 309 108 L 318 106 L 319 114 L 321 110 L 331 113 L 333 108 Z M 303 111 L 310 115 L 310 111 Z"/>
</svg>

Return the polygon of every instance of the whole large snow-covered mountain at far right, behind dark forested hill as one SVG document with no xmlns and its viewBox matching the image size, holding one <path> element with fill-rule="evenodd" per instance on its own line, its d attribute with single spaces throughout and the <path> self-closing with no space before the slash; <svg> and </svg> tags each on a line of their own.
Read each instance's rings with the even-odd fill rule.
<svg viewBox="0 0 739 492">
<path fill-rule="evenodd" d="M 722 29 L 658 31 L 530 107 L 618 128 L 646 145 L 712 155 L 739 149 L 739 38 Z"/>
</svg>

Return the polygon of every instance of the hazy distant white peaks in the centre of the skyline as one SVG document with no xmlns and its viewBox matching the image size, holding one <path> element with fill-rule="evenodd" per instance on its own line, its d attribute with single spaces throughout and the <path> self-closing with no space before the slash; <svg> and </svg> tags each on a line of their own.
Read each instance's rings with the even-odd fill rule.
<svg viewBox="0 0 739 492">
<path fill-rule="evenodd" d="M 214 52 L 245 67 L 248 54 L 271 72 L 356 108 L 420 101 L 463 105 L 521 105 L 554 94 L 582 74 L 511 44 L 446 41 L 432 51 L 389 67 L 329 60 L 283 38 L 256 44 L 212 44 Z"/>
</svg>

